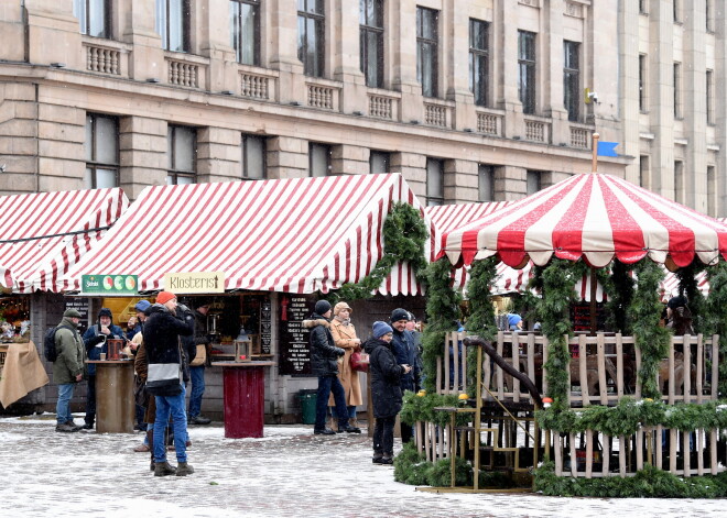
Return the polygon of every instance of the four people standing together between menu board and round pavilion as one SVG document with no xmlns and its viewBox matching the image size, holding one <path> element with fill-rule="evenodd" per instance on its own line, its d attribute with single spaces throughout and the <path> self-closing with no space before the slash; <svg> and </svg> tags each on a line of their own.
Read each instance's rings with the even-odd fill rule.
<svg viewBox="0 0 727 518">
<path fill-rule="evenodd" d="M 362 403 L 361 387 L 358 372 L 350 366 L 350 356 L 364 351 L 369 356 L 371 407 L 376 418 L 372 460 L 376 464 L 392 464 L 393 428 L 403 392 L 417 390 L 422 381 L 416 322 L 405 309 L 394 309 L 389 322 L 373 322 L 371 337 L 361 344 L 350 322 L 351 311 L 346 302 L 332 307 L 327 300 L 318 300 L 312 317 L 303 321 L 311 332 L 313 374 L 318 376 L 313 432 L 324 436 L 361 432 L 356 426 L 356 406 Z M 329 403 L 338 420 L 337 430 L 326 426 Z M 412 437 L 412 427 L 402 422 L 402 442 L 411 441 Z"/>
</svg>

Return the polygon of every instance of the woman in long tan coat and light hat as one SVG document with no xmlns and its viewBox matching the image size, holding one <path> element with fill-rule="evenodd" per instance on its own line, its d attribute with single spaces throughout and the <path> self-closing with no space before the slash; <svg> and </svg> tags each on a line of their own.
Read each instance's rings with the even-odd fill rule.
<svg viewBox="0 0 727 518">
<path fill-rule="evenodd" d="M 334 318 L 330 321 L 330 334 L 333 334 L 336 346 L 346 351 L 338 360 L 338 379 L 346 392 L 346 405 L 348 406 L 349 423 L 356 427 L 356 406 L 362 405 L 361 384 L 358 372 L 351 370 L 350 357 L 354 351 L 360 351 L 361 341 L 356 337 L 356 329 L 350 320 L 351 308 L 346 302 L 338 302 L 334 307 Z M 328 399 L 328 406 L 336 406 L 333 395 Z"/>
</svg>

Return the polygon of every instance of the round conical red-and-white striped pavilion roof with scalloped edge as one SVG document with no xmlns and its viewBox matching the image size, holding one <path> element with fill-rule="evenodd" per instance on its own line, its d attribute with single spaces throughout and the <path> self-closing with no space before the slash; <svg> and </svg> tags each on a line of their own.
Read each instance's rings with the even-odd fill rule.
<svg viewBox="0 0 727 518">
<path fill-rule="evenodd" d="M 584 257 L 603 267 L 649 255 L 676 266 L 696 254 L 704 263 L 727 257 L 727 224 L 605 174 L 575 175 L 442 236 L 454 264 L 498 254 L 510 266 L 531 258 Z"/>
</svg>

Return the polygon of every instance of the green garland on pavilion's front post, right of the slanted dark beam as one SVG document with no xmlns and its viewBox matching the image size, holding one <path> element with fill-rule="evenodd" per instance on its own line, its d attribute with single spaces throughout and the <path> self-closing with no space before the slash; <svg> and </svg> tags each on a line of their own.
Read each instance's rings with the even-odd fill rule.
<svg viewBox="0 0 727 518">
<path fill-rule="evenodd" d="M 547 395 L 555 410 L 568 408 L 568 368 L 571 353 L 567 339 L 573 329 L 568 308 L 574 296 L 576 275 L 567 261 L 553 258 L 543 271 L 543 298 L 538 306 L 543 334 L 547 338 Z"/>
</svg>

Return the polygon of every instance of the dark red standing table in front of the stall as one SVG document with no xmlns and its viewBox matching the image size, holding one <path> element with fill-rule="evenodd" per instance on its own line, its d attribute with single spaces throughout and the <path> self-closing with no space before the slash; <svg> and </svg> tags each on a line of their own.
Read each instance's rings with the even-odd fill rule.
<svg viewBox="0 0 727 518">
<path fill-rule="evenodd" d="M 261 438 L 264 425 L 265 372 L 275 362 L 213 362 L 223 367 L 225 437 Z"/>
</svg>

